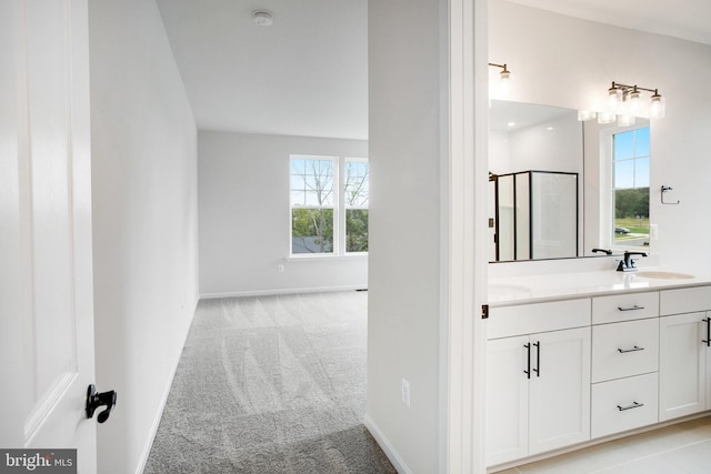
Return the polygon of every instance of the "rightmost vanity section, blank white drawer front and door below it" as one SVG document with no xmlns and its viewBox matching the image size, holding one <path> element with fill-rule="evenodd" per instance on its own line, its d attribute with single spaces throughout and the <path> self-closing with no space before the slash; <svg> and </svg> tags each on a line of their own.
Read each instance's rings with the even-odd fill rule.
<svg viewBox="0 0 711 474">
<path fill-rule="evenodd" d="M 662 291 L 660 312 L 660 421 L 711 409 L 711 286 Z"/>
</svg>

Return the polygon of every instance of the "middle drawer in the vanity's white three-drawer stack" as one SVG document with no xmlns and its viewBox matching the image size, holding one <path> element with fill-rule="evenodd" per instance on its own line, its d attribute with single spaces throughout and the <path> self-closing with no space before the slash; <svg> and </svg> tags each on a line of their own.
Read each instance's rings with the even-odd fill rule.
<svg viewBox="0 0 711 474">
<path fill-rule="evenodd" d="M 659 370 L 659 319 L 592 326 L 592 383 Z"/>
</svg>

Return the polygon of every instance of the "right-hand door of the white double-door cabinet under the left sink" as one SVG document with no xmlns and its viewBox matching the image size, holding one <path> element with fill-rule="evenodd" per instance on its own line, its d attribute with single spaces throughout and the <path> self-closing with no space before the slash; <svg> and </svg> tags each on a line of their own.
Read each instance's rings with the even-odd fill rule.
<svg viewBox="0 0 711 474">
<path fill-rule="evenodd" d="M 529 455 L 590 440 L 590 327 L 530 339 Z"/>
</svg>

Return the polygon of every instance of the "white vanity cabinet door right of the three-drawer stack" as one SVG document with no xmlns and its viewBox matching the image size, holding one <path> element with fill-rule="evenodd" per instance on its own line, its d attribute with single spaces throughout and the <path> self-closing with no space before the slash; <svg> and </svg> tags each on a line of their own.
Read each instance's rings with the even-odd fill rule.
<svg viewBox="0 0 711 474">
<path fill-rule="evenodd" d="M 660 317 L 660 422 L 705 407 L 704 317 L 704 313 Z"/>
</svg>

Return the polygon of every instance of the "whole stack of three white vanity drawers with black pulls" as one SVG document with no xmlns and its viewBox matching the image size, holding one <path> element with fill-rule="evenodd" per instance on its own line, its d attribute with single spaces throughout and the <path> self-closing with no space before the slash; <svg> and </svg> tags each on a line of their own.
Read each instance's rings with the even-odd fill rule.
<svg viewBox="0 0 711 474">
<path fill-rule="evenodd" d="M 659 293 L 592 300 L 591 437 L 658 422 Z"/>
</svg>

